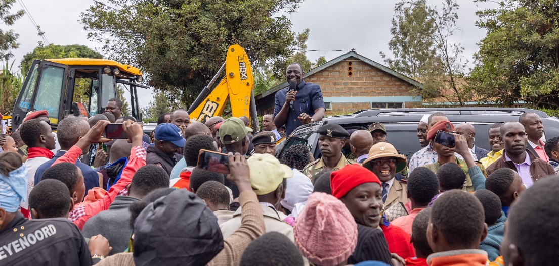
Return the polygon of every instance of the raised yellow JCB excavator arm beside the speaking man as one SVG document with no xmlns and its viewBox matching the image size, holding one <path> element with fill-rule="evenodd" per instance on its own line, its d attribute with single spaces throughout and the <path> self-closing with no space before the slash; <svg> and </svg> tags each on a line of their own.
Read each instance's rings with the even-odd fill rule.
<svg viewBox="0 0 559 266">
<path fill-rule="evenodd" d="M 225 78 L 210 90 L 217 77 L 225 69 Z M 253 128 L 258 130 L 258 118 L 254 101 L 254 76 L 247 53 L 239 45 L 231 45 L 227 51 L 224 65 L 216 73 L 196 100 L 188 113 L 202 123 L 207 118 L 223 114 L 225 104 L 231 103 L 234 117 L 248 117 Z"/>
</svg>

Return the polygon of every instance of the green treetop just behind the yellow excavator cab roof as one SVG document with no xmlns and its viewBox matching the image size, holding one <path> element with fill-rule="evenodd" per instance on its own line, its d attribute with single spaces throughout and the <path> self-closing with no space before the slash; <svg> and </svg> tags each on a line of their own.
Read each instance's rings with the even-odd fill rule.
<svg viewBox="0 0 559 266">
<path fill-rule="evenodd" d="M 27 73 L 31 67 L 31 63 L 35 59 L 49 59 L 49 58 L 103 58 L 103 55 L 92 50 L 85 45 L 48 45 L 39 46 L 23 55 L 20 63 L 22 73 Z"/>
</svg>

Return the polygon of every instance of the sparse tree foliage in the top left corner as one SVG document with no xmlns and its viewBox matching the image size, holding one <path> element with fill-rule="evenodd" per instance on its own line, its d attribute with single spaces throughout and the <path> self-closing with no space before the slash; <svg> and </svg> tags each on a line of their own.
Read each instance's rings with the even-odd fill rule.
<svg viewBox="0 0 559 266">
<path fill-rule="evenodd" d="M 12 26 L 23 14 L 25 11 L 20 9 L 15 13 L 11 13 L 12 5 L 15 3 L 16 0 L 0 0 L 0 24 L 4 24 L 7 26 Z M 17 43 L 17 38 L 20 35 L 15 33 L 13 30 L 0 30 L 0 58 L 4 60 L 10 59 L 13 56 L 10 50 L 18 49 L 20 47 L 20 43 Z"/>
</svg>

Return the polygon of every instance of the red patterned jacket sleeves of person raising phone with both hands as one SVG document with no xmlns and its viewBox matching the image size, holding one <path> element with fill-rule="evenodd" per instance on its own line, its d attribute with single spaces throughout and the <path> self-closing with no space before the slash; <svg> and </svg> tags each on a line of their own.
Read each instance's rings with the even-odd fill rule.
<svg viewBox="0 0 559 266">
<path fill-rule="evenodd" d="M 68 150 L 64 156 L 58 158 L 53 165 L 61 162 L 75 163 L 78 157 L 82 154 L 82 149 L 77 146 L 73 146 Z M 122 170 L 119 182 L 111 186 L 111 189 L 99 200 L 91 202 L 89 204 L 84 204 L 79 207 L 75 207 L 72 212 L 70 212 L 68 219 L 74 222 L 78 226 L 79 230 L 83 229 L 83 225 L 86 221 L 93 215 L 98 214 L 101 211 L 107 210 L 111 203 L 115 200 L 116 196 L 127 195 L 128 190 L 126 186 L 132 182 L 132 176 L 138 171 L 142 166 L 145 166 L 145 149 L 141 146 L 132 147 L 130 150 L 130 160 L 128 164 Z"/>
</svg>

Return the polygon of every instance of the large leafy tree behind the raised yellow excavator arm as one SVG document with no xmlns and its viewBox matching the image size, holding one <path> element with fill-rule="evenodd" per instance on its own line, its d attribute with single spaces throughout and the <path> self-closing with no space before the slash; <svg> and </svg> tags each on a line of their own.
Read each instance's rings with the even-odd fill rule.
<svg viewBox="0 0 559 266">
<path fill-rule="evenodd" d="M 139 66 L 156 90 L 191 103 L 238 43 L 275 74 L 296 44 L 291 21 L 302 0 L 108 0 L 82 12 L 89 40 L 113 59 Z M 183 106 L 184 107 L 184 106 Z"/>
</svg>

